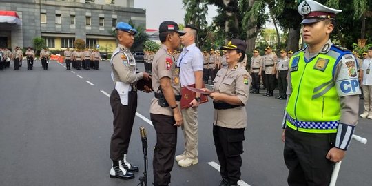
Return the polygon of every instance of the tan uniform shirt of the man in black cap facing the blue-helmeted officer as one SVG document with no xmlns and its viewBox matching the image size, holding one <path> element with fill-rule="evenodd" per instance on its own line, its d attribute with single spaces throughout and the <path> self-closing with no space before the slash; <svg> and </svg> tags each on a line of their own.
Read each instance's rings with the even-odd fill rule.
<svg viewBox="0 0 372 186">
<path fill-rule="evenodd" d="M 174 95 L 180 95 L 180 79 L 179 68 L 177 68 L 176 59 L 170 53 L 166 45 L 161 45 L 161 48 L 156 52 L 154 61 L 152 61 L 152 88 L 155 92 L 160 93 L 160 79 L 168 77 L 171 81 L 172 90 Z M 179 105 L 179 101 L 176 101 Z M 173 105 L 172 105 L 173 106 Z M 163 114 L 173 116 L 173 111 L 170 107 L 161 107 L 158 105 L 158 99 L 152 99 L 150 103 L 151 114 Z"/>
</svg>

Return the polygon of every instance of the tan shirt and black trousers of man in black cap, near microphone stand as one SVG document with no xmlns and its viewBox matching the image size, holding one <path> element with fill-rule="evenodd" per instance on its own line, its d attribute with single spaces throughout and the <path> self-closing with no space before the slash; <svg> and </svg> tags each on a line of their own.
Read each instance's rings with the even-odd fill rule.
<svg viewBox="0 0 372 186">
<path fill-rule="evenodd" d="M 154 149 L 154 184 L 168 185 L 170 183 L 174 155 L 177 144 L 177 127 L 173 126 L 173 111 L 169 107 L 159 105 L 160 79 L 169 77 L 172 82 L 172 90 L 176 97 L 177 105 L 180 101 L 180 79 L 178 77 L 179 69 L 176 68 L 176 59 L 169 52 L 166 45 L 156 52 L 152 62 L 152 87 L 156 92 L 155 98 L 150 104 L 151 121 L 156 130 L 156 145 Z"/>
</svg>

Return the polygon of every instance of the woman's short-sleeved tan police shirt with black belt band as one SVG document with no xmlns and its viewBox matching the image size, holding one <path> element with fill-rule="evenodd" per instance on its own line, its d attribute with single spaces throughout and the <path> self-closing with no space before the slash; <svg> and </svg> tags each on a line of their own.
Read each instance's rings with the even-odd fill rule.
<svg viewBox="0 0 372 186">
<path fill-rule="evenodd" d="M 247 103 L 251 76 L 241 63 L 234 68 L 221 68 L 214 79 L 213 92 L 238 96 L 243 105 Z M 234 121 L 234 122 L 231 122 Z M 244 128 L 247 126 L 245 106 L 225 110 L 214 110 L 214 125 L 227 128 Z"/>
</svg>

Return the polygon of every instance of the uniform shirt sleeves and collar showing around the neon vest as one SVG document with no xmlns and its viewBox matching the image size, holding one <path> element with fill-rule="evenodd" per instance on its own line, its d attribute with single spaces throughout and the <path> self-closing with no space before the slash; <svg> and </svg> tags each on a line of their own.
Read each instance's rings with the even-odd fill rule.
<svg viewBox="0 0 372 186">
<path fill-rule="evenodd" d="M 331 40 L 327 41 L 327 43 L 323 46 L 323 48 L 320 49 L 318 53 L 315 53 L 312 55 L 310 55 L 308 48 L 304 48 L 304 57 L 306 59 L 311 59 L 317 56 L 319 53 L 327 53 L 331 49 L 330 47 L 331 45 L 333 45 Z M 354 61 L 355 63 L 355 58 L 353 54 L 344 55 L 344 57 L 349 57 L 349 56 L 351 56 L 350 59 Z M 339 81 L 340 78 L 343 78 L 342 76 L 344 76 L 344 73 L 342 73 L 342 76 L 339 76 L 341 74 L 340 72 L 349 70 L 349 68 L 347 67 L 347 65 L 345 65 L 344 62 L 345 62 L 344 58 L 342 58 L 340 59 L 340 62 L 336 66 L 335 73 L 333 76 L 333 82 Z M 308 78 L 316 78 L 316 77 L 308 77 Z M 287 79 L 288 79 L 287 95 L 291 96 L 292 84 L 291 84 L 291 73 L 290 72 L 288 73 Z M 335 86 L 338 90 L 340 90 L 340 86 L 338 85 L 338 83 L 336 83 Z M 358 88 L 358 92 L 360 92 L 359 87 L 357 88 Z M 349 92 L 349 93 L 358 94 L 358 92 Z M 339 97 L 340 97 L 340 107 L 341 107 L 340 123 L 346 123 L 347 125 L 354 125 L 354 126 L 357 125 L 359 109 L 358 109 L 358 104 L 355 104 L 355 103 L 359 102 L 359 96 L 339 96 Z M 289 98 L 287 100 L 289 100 Z M 285 122 L 282 124 L 283 124 L 283 127 L 285 127 Z"/>
</svg>

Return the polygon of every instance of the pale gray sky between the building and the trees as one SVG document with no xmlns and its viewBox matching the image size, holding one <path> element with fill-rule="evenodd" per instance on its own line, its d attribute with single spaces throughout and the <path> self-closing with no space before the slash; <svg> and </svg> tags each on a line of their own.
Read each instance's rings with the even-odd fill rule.
<svg viewBox="0 0 372 186">
<path fill-rule="evenodd" d="M 146 28 L 158 29 L 163 21 L 183 23 L 185 9 L 182 0 L 134 0 L 135 8 L 146 9 Z M 217 15 L 216 7 L 209 6 L 207 21 Z"/>
</svg>

